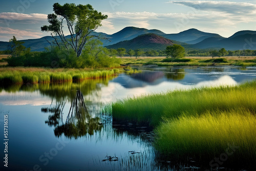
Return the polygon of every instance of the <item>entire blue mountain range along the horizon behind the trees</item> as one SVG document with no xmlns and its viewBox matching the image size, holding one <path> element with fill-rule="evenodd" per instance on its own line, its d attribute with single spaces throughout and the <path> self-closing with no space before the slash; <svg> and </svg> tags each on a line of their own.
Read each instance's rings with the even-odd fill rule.
<svg viewBox="0 0 256 171">
<path fill-rule="evenodd" d="M 126 27 L 114 34 L 94 32 L 101 37 L 109 37 L 111 41 L 102 39 L 103 46 L 117 49 L 144 49 L 162 50 L 166 46 L 179 44 L 185 49 L 220 49 L 226 50 L 256 50 L 256 31 L 239 31 L 232 36 L 225 38 L 219 34 L 202 32 L 197 29 L 189 29 L 176 34 L 165 34 L 160 30 L 148 30 L 136 27 Z M 69 37 L 69 36 L 68 36 Z M 30 47 L 31 51 L 43 51 L 53 41 L 51 36 L 38 39 L 27 39 L 24 41 L 25 47 Z M 0 50 L 6 50 L 9 42 L 0 41 Z"/>
</svg>

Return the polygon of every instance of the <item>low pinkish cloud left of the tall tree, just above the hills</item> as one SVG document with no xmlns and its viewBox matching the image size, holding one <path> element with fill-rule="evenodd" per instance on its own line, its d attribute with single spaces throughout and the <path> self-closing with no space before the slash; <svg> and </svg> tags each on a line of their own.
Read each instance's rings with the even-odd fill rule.
<svg viewBox="0 0 256 171">
<path fill-rule="evenodd" d="M 42 32 L 34 31 L 34 30 L 19 30 L 12 29 L 6 27 L 0 27 L 0 38 L 6 39 L 15 35 L 17 39 L 27 39 L 27 38 L 40 38 L 42 36 Z"/>
</svg>

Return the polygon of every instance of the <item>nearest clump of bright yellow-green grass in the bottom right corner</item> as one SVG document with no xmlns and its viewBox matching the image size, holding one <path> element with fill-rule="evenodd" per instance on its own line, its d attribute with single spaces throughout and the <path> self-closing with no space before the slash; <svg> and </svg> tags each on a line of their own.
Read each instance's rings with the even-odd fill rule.
<svg viewBox="0 0 256 171">
<path fill-rule="evenodd" d="M 184 114 L 161 123 L 155 130 L 155 147 L 163 154 L 208 161 L 225 153 L 229 162 L 251 164 L 256 160 L 255 130 L 256 116 L 250 111 Z"/>
</svg>

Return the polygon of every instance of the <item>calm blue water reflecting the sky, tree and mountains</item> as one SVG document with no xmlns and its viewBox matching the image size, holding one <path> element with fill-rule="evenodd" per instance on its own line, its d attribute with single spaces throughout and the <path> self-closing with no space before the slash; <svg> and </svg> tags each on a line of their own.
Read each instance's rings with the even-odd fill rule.
<svg viewBox="0 0 256 171">
<path fill-rule="evenodd" d="M 0 146 L 1 170 L 210 170 L 208 163 L 158 155 L 150 127 L 112 123 L 100 108 L 126 97 L 250 81 L 256 68 L 137 68 L 145 72 L 81 83 L 0 86 L 0 127 L 4 130 L 8 115 L 9 139 L 8 168 Z M 110 156 L 118 160 L 102 161 Z"/>
</svg>

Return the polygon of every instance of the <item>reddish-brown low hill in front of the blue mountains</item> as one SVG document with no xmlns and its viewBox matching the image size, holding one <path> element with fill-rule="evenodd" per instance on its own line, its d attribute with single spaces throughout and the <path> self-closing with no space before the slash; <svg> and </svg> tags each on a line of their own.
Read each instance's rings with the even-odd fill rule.
<svg viewBox="0 0 256 171">
<path fill-rule="evenodd" d="M 174 41 L 153 33 L 143 34 L 132 40 L 125 40 L 117 44 L 106 46 L 109 49 L 125 48 L 126 50 L 164 50 L 167 46 L 172 46 Z"/>
</svg>

